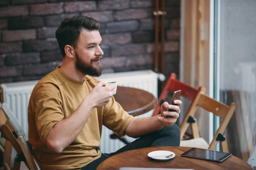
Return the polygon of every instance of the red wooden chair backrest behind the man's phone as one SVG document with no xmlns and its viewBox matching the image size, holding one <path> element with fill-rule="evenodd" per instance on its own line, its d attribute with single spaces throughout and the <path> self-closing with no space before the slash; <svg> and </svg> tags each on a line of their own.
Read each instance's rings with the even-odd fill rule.
<svg viewBox="0 0 256 170">
<path fill-rule="evenodd" d="M 185 97 L 186 99 L 189 99 L 190 101 L 193 101 L 195 97 L 202 92 L 200 88 L 196 89 L 190 85 L 180 82 L 178 79 L 176 79 L 176 74 L 171 73 L 169 79 L 166 82 L 166 85 L 163 88 L 163 91 L 158 98 L 157 106 L 154 109 L 152 116 L 156 116 L 160 113 L 161 105 L 163 104 L 163 102 L 166 101 L 168 93 L 170 91 L 174 92 L 177 90 L 181 90 L 180 95 Z"/>
</svg>

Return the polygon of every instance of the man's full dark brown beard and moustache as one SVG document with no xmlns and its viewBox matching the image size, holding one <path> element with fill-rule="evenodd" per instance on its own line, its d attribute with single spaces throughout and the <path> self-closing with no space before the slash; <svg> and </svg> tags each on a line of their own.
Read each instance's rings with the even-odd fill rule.
<svg viewBox="0 0 256 170">
<path fill-rule="evenodd" d="M 98 61 L 102 59 L 100 57 L 94 57 L 90 60 L 90 64 L 84 63 L 81 60 L 81 57 L 75 52 L 76 54 L 76 68 L 83 74 L 87 74 L 92 77 L 99 77 L 102 74 L 102 65 L 101 63 L 97 63 L 96 67 L 93 67 L 93 61 Z"/>
</svg>

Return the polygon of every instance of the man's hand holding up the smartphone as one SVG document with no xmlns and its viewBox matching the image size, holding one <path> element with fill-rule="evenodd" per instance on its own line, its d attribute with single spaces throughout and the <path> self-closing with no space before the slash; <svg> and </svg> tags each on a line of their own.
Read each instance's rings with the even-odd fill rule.
<svg viewBox="0 0 256 170">
<path fill-rule="evenodd" d="M 169 105 L 168 102 L 164 102 L 161 105 L 161 109 L 160 109 L 161 116 L 158 116 L 158 119 L 162 121 L 163 125 L 165 126 L 172 126 L 173 124 L 175 124 L 175 122 L 179 117 L 180 105 L 182 104 L 182 102 L 180 100 L 175 100 L 174 103 L 176 105 Z M 166 111 L 167 108 L 169 108 L 169 111 Z M 170 111 L 171 109 L 174 111 Z M 171 117 L 164 118 L 164 116 L 171 116 Z"/>
</svg>

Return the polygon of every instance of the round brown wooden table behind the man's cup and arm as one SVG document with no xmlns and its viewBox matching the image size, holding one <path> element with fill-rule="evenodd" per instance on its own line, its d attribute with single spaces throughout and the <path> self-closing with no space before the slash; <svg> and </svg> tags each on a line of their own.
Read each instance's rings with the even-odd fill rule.
<svg viewBox="0 0 256 170">
<path fill-rule="evenodd" d="M 132 116 L 147 113 L 157 105 L 157 99 L 153 94 L 137 88 L 117 86 L 114 98 Z"/>
</svg>

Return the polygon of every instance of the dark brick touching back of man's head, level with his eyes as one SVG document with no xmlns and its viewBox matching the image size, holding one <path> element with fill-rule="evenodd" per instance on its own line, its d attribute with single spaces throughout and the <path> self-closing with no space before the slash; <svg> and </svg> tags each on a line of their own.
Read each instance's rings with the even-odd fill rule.
<svg viewBox="0 0 256 170">
<path fill-rule="evenodd" d="M 25 52 L 55 50 L 58 48 L 59 48 L 58 42 L 56 39 L 53 39 L 53 40 L 28 40 L 28 41 L 24 41 L 24 44 L 23 44 L 23 50 Z"/>
</svg>

